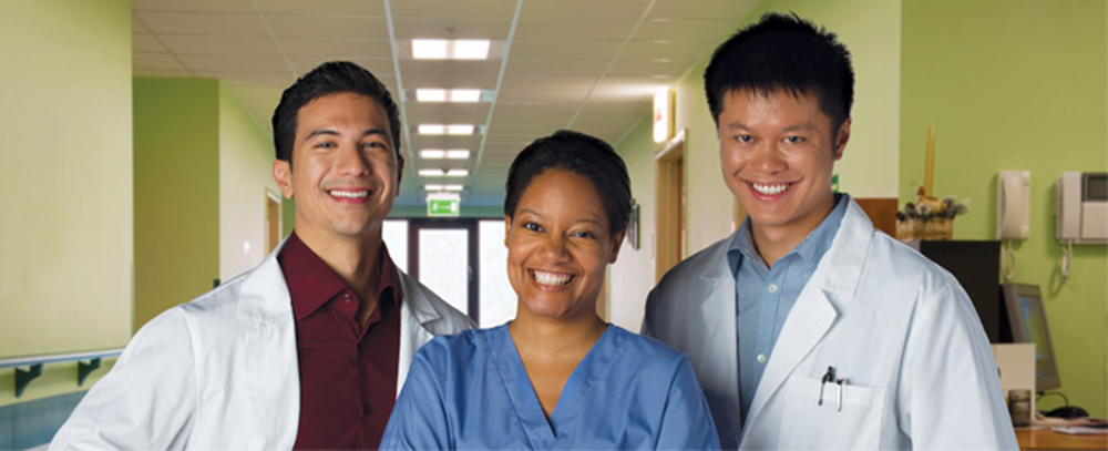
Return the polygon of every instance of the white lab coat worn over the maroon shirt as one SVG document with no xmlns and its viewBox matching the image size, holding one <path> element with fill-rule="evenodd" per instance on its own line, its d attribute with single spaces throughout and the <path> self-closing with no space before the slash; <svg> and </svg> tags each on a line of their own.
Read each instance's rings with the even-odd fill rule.
<svg viewBox="0 0 1108 451">
<path fill-rule="evenodd" d="M 278 252 L 138 330 L 50 449 L 291 449 L 300 379 Z M 399 278 L 398 393 L 419 347 L 473 327 L 407 274 Z"/>
</svg>

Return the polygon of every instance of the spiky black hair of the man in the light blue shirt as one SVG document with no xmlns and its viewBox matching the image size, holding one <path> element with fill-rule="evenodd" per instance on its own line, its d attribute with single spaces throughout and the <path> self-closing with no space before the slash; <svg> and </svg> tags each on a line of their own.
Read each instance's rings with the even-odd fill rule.
<svg viewBox="0 0 1108 451">
<path fill-rule="evenodd" d="M 717 127 L 727 94 L 784 91 L 814 94 L 831 119 L 831 133 L 837 133 L 854 103 L 854 70 L 834 33 L 796 13 L 769 12 L 716 49 L 704 72 L 704 89 Z"/>
</svg>

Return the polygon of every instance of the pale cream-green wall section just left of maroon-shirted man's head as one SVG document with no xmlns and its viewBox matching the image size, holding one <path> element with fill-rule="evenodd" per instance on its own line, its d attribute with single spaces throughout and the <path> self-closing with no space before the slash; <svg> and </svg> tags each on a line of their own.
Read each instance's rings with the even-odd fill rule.
<svg viewBox="0 0 1108 451">
<path fill-rule="evenodd" d="M 219 278 L 229 280 L 267 255 L 266 193 L 281 198 L 273 177 L 274 145 L 243 103 L 219 83 Z"/>
</svg>

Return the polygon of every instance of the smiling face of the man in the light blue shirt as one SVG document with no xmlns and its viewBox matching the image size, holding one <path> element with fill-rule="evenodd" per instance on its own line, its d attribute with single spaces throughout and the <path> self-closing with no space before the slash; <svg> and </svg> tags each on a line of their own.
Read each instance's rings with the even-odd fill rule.
<svg viewBox="0 0 1108 451">
<path fill-rule="evenodd" d="M 719 114 L 724 181 L 759 235 L 802 239 L 834 206 L 831 170 L 850 137 L 850 120 L 831 120 L 811 92 L 793 96 L 732 91 Z"/>
</svg>

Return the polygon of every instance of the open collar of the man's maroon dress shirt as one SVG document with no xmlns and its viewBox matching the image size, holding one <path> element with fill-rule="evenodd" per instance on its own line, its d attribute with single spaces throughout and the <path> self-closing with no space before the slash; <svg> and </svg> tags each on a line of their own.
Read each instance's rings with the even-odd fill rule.
<svg viewBox="0 0 1108 451">
<path fill-rule="evenodd" d="M 281 273 L 285 275 L 285 283 L 288 285 L 289 297 L 293 299 L 293 312 L 296 319 L 302 319 L 311 315 L 328 300 L 340 293 L 350 289 L 335 270 L 324 263 L 308 245 L 296 235 L 289 234 L 285 247 L 277 256 Z M 399 275 L 389 250 L 381 243 L 381 279 L 378 284 L 378 299 L 391 298 L 397 308 L 400 307 L 400 285 Z M 391 296 L 386 296 L 386 290 L 391 289 Z"/>
</svg>

